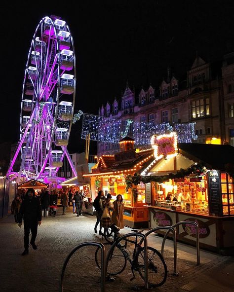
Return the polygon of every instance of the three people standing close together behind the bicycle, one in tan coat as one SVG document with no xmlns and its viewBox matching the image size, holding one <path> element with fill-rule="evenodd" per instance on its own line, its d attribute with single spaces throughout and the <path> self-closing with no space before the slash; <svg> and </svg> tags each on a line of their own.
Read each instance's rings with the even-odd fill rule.
<svg viewBox="0 0 234 292">
<path fill-rule="evenodd" d="M 97 197 L 94 199 L 93 207 L 96 211 L 97 221 L 94 227 L 94 232 L 97 232 L 99 225 L 99 234 L 102 234 L 102 228 L 104 228 L 104 234 L 106 234 L 108 227 L 115 224 L 119 229 L 124 228 L 123 224 L 123 212 L 124 205 L 121 195 L 117 195 L 116 201 L 111 203 L 112 195 L 109 193 L 104 196 L 104 192 L 100 190 Z M 112 215 L 111 215 L 111 211 Z"/>
</svg>

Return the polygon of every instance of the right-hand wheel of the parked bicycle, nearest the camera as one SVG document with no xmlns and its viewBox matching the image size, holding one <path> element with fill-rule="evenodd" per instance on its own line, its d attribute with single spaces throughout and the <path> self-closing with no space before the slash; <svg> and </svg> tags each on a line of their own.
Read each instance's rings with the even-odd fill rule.
<svg viewBox="0 0 234 292">
<path fill-rule="evenodd" d="M 136 254 L 138 272 L 145 279 L 144 248 L 140 248 Z M 148 247 L 148 282 L 152 287 L 158 287 L 165 283 L 167 278 L 167 266 L 162 255 L 154 248 Z"/>
</svg>

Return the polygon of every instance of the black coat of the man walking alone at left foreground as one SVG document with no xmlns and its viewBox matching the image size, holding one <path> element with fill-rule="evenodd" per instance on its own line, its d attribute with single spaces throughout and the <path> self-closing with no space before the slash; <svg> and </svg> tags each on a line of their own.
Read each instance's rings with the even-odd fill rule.
<svg viewBox="0 0 234 292">
<path fill-rule="evenodd" d="M 22 219 L 30 223 L 41 221 L 41 205 L 39 198 L 33 196 L 32 198 L 25 197 L 21 204 L 18 222 Z"/>
</svg>

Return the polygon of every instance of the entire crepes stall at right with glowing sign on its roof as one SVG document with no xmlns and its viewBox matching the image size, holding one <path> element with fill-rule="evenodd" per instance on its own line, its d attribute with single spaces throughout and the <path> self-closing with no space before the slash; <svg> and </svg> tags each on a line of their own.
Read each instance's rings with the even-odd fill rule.
<svg viewBox="0 0 234 292">
<path fill-rule="evenodd" d="M 195 221 L 202 248 L 233 254 L 234 147 L 177 144 L 174 134 L 153 137 L 152 146 L 155 160 L 131 181 L 148 185 L 149 227 Z M 179 241 L 195 245 L 193 225 L 177 232 Z"/>
</svg>

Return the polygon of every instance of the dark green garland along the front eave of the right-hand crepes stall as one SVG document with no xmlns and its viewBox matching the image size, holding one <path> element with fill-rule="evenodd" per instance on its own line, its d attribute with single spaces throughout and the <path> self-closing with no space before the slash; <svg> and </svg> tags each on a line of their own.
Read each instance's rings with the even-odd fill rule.
<svg viewBox="0 0 234 292">
<path fill-rule="evenodd" d="M 126 182 L 126 190 L 128 188 L 131 188 L 132 185 L 137 185 L 140 182 L 142 183 L 163 183 L 165 181 L 168 181 L 169 179 L 182 179 L 184 177 L 187 177 L 189 175 L 195 174 L 199 176 L 202 173 L 206 172 L 206 168 L 202 166 L 201 164 L 194 164 L 188 169 L 183 169 L 181 168 L 176 174 L 170 173 L 169 175 L 165 176 L 149 176 L 149 177 L 143 177 L 139 173 L 135 173 L 133 176 L 127 175 L 125 177 L 125 182 Z"/>
</svg>

